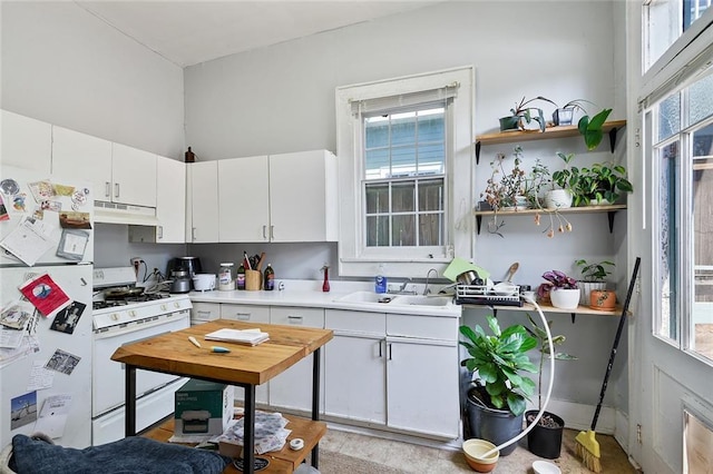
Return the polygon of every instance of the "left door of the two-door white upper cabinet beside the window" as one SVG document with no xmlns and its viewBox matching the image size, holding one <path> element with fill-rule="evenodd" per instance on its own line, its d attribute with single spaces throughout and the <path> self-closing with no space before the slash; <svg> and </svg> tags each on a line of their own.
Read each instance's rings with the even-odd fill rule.
<svg viewBox="0 0 713 474">
<path fill-rule="evenodd" d="M 267 157 L 218 161 L 219 241 L 267 241 Z"/>
</svg>

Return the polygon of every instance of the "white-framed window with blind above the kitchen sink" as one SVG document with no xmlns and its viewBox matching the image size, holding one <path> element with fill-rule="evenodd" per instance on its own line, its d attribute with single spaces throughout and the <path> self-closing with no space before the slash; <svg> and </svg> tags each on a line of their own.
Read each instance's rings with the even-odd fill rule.
<svg viewBox="0 0 713 474">
<path fill-rule="evenodd" d="M 424 278 L 472 255 L 473 76 L 336 89 L 340 275 Z"/>
</svg>

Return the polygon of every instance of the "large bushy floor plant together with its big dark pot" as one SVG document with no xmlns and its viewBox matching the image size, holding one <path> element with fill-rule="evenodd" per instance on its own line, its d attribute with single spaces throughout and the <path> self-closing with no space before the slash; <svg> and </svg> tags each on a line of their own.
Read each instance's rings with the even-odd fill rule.
<svg viewBox="0 0 713 474">
<path fill-rule="evenodd" d="M 500 329 L 498 320 L 488 315 L 491 336 L 476 325 L 460 326 L 466 338 L 460 344 L 470 357 L 460 365 L 477 372 L 475 384 L 467 393 L 470 436 L 487 440 L 495 445 L 502 444 L 522 431 L 526 399 L 535 393 L 535 382 L 522 375 L 537 373 L 527 353 L 537 346 L 537 339 L 522 325 Z M 515 451 L 511 444 L 500 451 L 507 456 Z"/>
</svg>

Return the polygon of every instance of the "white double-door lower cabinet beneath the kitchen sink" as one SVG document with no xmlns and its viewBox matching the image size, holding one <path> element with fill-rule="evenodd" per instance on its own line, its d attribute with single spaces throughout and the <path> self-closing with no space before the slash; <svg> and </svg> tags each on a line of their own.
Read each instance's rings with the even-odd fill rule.
<svg viewBox="0 0 713 474">
<path fill-rule="evenodd" d="M 448 317 L 326 309 L 334 338 L 325 346 L 324 414 L 457 438 L 457 325 Z"/>
</svg>

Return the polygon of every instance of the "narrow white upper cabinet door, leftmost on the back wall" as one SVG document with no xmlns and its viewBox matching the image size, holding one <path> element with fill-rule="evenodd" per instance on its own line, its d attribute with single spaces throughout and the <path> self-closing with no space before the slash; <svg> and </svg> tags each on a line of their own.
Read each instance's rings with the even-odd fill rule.
<svg viewBox="0 0 713 474">
<path fill-rule="evenodd" d="M 217 161 L 188 165 L 191 176 L 192 243 L 218 241 L 218 165 Z"/>
</svg>

